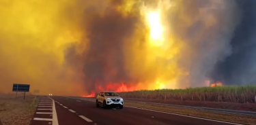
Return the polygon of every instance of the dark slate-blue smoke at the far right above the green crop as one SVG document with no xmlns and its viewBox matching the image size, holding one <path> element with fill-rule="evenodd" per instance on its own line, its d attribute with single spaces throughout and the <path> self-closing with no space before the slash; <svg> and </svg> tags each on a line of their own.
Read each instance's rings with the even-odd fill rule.
<svg viewBox="0 0 256 125">
<path fill-rule="evenodd" d="M 236 2 L 242 21 L 231 40 L 232 53 L 218 62 L 212 78 L 226 85 L 256 84 L 256 1 Z"/>
</svg>

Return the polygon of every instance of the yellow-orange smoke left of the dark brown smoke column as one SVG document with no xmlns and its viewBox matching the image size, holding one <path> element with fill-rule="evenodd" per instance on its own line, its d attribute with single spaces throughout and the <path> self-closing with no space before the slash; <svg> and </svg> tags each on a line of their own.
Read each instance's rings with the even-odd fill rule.
<svg viewBox="0 0 256 125">
<path fill-rule="evenodd" d="M 63 93 L 61 86 L 72 88 L 67 94 L 79 88 L 63 66 L 66 46 L 81 39 L 77 18 L 68 17 L 69 5 L 67 0 L 0 1 L 1 91 L 10 92 L 14 83 L 31 84 L 31 92 L 44 94 Z"/>
</svg>

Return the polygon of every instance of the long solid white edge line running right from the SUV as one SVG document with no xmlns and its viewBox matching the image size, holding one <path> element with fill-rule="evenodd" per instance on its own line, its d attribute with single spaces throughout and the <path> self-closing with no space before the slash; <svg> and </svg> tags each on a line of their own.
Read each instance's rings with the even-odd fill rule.
<svg viewBox="0 0 256 125">
<path fill-rule="evenodd" d="M 125 107 L 128 107 L 128 106 L 125 106 Z M 169 112 L 164 112 L 164 111 L 156 111 L 156 110 L 151 110 L 151 109 L 142 109 L 142 108 L 139 108 L 139 107 L 130 107 L 130 108 L 147 110 L 147 111 L 155 111 L 155 112 L 160 112 L 160 113 L 168 113 L 168 114 L 171 114 L 171 115 L 180 115 L 180 116 L 184 116 L 184 117 L 188 117 L 188 118 L 197 118 L 197 117 L 194 117 L 194 116 L 181 115 L 181 114 L 177 114 L 177 113 L 169 113 Z M 243 124 L 237 124 L 237 123 L 232 123 L 232 122 L 223 122 L 223 121 L 218 121 L 218 120 L 210 120 L 210 119 L 205 119 L 205 118 L 197 118 L 197 119 L 208 120 L 208 121 L 213 121 L 213 122 L 221 122 L 221 123 L 227 123 L 227 124 L 243 125 Z"/>
</svg>

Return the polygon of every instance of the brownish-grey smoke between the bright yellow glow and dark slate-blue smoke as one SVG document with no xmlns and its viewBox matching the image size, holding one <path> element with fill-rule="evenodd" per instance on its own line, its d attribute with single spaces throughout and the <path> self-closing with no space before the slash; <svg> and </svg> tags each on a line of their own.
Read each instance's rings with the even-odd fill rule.
<svg viewBox="0 0 256 125">
<path fill-rule="evenodd" d="M 213 80 L 210 73 L 214 65 L 231 54 L 230 42 L 240 22 L 240 10 L 236 1 L 184 1 L 182 6 L 177 15 L 169 16 L 175 24 L 175 34 L 186 42 L 179 64 L 186 64 L 191 87 L 209 86 L 203 83 Z M 193 22 L 186 29 L 186 22 L 180 18 L 183 13 Z M 184 77 L 182 80 L 186 83 Z"/>
</svg>

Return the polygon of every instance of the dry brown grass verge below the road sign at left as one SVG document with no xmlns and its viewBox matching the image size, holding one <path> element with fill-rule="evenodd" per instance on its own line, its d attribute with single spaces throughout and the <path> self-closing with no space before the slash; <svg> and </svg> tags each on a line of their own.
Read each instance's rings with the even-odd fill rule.
<svg viewBox="0 0 256 125">
<path fill-rule="evenodd" d="M 23 95 L 0 94 L 0 119 L 3 125 L 29 125 L 38 99 L 35 96 L 27 95 L 23 100 Z"/>
</svg>

